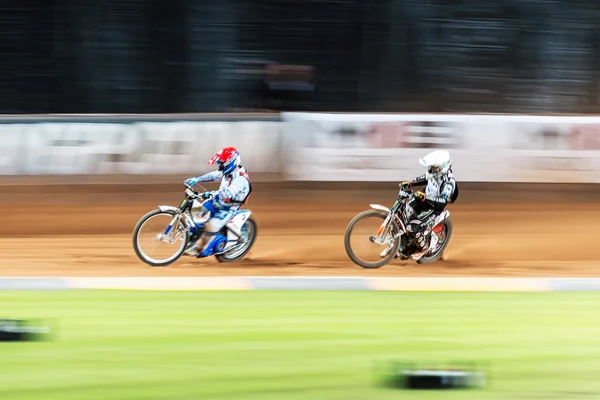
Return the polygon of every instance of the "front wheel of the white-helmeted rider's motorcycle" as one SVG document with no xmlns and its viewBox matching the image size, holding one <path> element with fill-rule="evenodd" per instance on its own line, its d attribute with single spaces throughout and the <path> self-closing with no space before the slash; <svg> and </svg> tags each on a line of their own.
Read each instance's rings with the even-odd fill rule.
<svg viewBox="0 0 600 400">
<path fill-rule="evenodd" d="M 394 236 L 400 231 L 395 221 L 389 224 L 388 231 L 386 232 L 383 244 L 375 243 L 371 240 L 372 237 L 377 235 L 377 230 L 384 222 L 387 217 L 387 213 L 377 210 L 367 210 L 358 214 L 350 221 L 346 228 L 346 234 L 344 235 L 344 247 L 348 257 L 357 265 L 363 268 L 379 268 L 388 264 L 398 252 L 400 246 L 399 238 Z M 357 229 L 357 225 L 367 222 L 370 226 L 364 229 Z M 356 229 L 356 232 L 355 232 Z M 352 241 L 352 236 L 357 233 L 360 236 L 358 241 Z M 373 257 L 378 261 L 370 261 L 363 258 L 362 250 L 369 247 L 368 253 L 373 253 Z M 361 253 L 360 255 L 357 252 Z M 382 257 L 383 253 L 383 257 Z"/>
</svg>

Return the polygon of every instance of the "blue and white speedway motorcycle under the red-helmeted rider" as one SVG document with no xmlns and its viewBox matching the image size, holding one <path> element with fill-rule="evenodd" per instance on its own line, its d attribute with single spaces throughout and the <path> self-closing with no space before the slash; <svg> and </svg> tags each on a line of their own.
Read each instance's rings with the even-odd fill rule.
<svg viewBox="0 0 600 400">
<path fill-rule="evenodd" d="M 133 230 L 133 248 L 136 255 L 144 263 L 153 267 L 163 267 L 177 261 L 185 251 L 192 246 L 204 233 L 204 224 L 211 217 L 210 212 L 203 213 L 202 204 L 212 197 L 203 199 L 208 192 L 202 188 L 196 191 L 192 186 L 184 184 L 185 198 L 179 207 L 159 205 L 157 209 L 144 215 Z M 241 260 L 248 254 L 256 240 L 257 224 L 251 217 L 252 212 L 238 209 L 233 218 L 219 232 L 220 240 L 214 245 L 214 257 L 219 262 Z M 200 216 L 201 219 L 194 218 Z M 156 230 L 150 235 L 150 247 L 163 246 L 166 249 L 164 258 L 154 258 L 148 254 L 148 249 L 142 246 L 142 232 L 150 225 L 156 224 Z M 150 230 L 152 232 L 152 230 Z"/>
</svg>

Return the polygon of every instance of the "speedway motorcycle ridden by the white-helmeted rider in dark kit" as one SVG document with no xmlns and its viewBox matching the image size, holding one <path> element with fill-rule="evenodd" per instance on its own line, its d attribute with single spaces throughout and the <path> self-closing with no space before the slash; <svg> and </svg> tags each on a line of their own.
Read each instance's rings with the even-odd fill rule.
<svg viewBox="0 0 600 400">
<path fill-rule="evenodd" d="M 408 236 L 406 230 L 406 226 L 408 225 L 407 220 L 414 215 L 414 210 L 411 206 L 413 199 L 415 197 L 411 190 L 400 188 L 398 198 L 391 209 L 380 204 L 370 204 L 370 210 L 361 212 L 350 221 L 344 235 L 344 246 L 346 253 L 355 264 L 363 268 L 379 268 L 390 263 L 393 258 L 407 260 L 413 257 L 413 260 L 418 264 L 432 263 L 440 258 L 444 258 L 444 250 L 448 246 L 452 236 L 450 212 L 444 210 L 431 222 L 430 229 L 432 234 L 430 236 L 429 250 L 420 256 L 416 256 L 416 253 L 420 251 L 419 246 Z M 424 215 L 419 215 L 419 218 L 424 220 L 430 218 L 432 214 L 433 210 L 430 210 Z M 383 222 L 377 222 L 375 229 L 368 236 L 368 243 L 380 246 L 379 249 L 385 247 L 383 251 L 377 251 L 378 261 L 375 262 L 368 262 L 357 256 L 350 240 L 356 225 L 367 219 L 383 220 Z M 377 226 L 378 228 L 376 228 Z M 373 231 L 376 231 L 374 235 Z"/>
</svg>

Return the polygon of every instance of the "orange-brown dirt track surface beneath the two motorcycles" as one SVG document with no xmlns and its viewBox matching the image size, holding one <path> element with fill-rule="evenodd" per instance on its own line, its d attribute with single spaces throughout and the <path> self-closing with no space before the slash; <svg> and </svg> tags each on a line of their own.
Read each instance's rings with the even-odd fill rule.
<svg viewBox="0 0 600 400">
<path fill-rule="evenodd" d="M 177 205 L 180 191 L 79 188 L 31 196 L 0 190 L 0 276 L 600 276 L 595 203 L 481 203 L 466 195 L 467 201 L 449 207 L 454 235 L 448 261 L 395 260 L 365 270 L 345 254 L 344 230 L 369 203 L 389 206 L 393 188 L 256 191 L 248 204 L 259 224 L 251 259 L 219 264 L 182 257 L 152 268 L 136 257 L 131 233 L 158 204 Z"/>
</svg>

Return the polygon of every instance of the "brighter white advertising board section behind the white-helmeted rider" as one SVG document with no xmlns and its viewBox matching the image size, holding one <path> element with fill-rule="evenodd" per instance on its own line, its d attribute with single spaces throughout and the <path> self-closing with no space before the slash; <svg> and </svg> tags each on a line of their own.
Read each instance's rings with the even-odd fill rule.
<svg viewBox="0 0 600 400">
<path fill-rule="evenodd" d="M 471 182 L 600 182 L 600 118 L 284 113 L 286 170 L 304 181 L 402 181 L 449 150 Z"/>
</svg>

